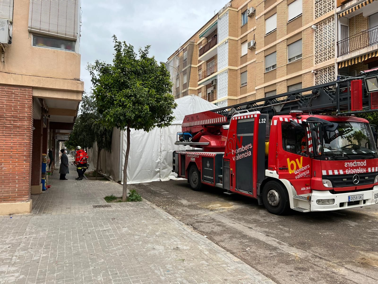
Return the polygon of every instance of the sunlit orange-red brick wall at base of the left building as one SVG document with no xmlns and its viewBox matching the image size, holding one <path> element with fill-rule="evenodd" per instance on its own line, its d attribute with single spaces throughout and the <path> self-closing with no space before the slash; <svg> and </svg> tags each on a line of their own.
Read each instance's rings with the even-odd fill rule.
<svg viewBox="0 0 378 284">
<path fill-rule="evenodd" d="M 27 87 L 0 86 L 0 202 L 30 199 L 33 97 Z"/>
</svg>

